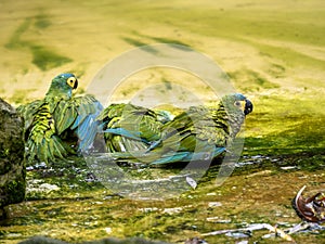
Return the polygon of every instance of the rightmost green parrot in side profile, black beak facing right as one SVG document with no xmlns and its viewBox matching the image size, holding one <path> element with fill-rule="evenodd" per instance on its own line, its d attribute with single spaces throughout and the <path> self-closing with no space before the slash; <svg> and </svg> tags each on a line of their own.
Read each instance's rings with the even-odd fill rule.
<svg viewBox="0 0 325 244">
<path fill-rule="evenodd" d="M 214 106 L 192 106 L 165 124 L 161 139 L 148 149 L 158 154 L 152 165 L 214 158 L 232 144 L 252 112 L 252 103 L 240 93 L 224 95 Z"/>
</svg>

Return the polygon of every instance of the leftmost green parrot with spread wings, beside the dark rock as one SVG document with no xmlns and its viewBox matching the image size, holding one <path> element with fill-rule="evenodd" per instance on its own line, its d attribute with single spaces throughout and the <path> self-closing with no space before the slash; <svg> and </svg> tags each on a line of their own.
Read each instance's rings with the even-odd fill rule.
<svg viewBox="0 0 325 244">
<path fill-rule="evenodd" d="M 28 160 L 54 162 L 91 149 L 98 132 L 95 118 L 103 107 L 92 95 L 74 98 L 77 87 L 75 75 L 61 74 L 44 99 L 17 107 L 25 119 Z"/>
</svg>

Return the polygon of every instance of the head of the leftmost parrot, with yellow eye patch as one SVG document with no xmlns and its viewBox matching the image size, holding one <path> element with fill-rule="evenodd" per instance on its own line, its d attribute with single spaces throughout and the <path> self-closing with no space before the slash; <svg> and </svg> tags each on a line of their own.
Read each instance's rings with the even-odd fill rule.
<svg viewBox="0 0 325 244">
<path fill-rule="evenodd" d="M 74 74 L 64 73 L 52 79 L 47 95 L 72 98 L 73 90 L 78 88 L 78 79 Z"/>
</svg>

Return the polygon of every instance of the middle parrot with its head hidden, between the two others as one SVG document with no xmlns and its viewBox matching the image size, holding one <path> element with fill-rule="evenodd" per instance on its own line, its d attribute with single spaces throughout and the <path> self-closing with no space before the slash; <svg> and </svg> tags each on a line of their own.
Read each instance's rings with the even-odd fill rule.
<svg viewBox="0 0 325 244">
<path fill-rule="evenodd" d="M 98 117 L 107 152 L 146 151 L 160 139 L 160 128 L 170 120 L 169 115 L 130 103 L 110 104 Z"/>
</svg>

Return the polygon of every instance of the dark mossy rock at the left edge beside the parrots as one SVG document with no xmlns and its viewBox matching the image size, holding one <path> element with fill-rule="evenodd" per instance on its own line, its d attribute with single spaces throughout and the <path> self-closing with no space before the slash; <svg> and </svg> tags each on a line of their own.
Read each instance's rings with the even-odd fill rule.
<svg viewBox="0 0 325 244">
<path fill-rule="evenodd" d="M 4 206 L 25 197 L 23 130 L 23 118 L 0 99 L 0 218 L 4 217 Z"/>
</svg>

